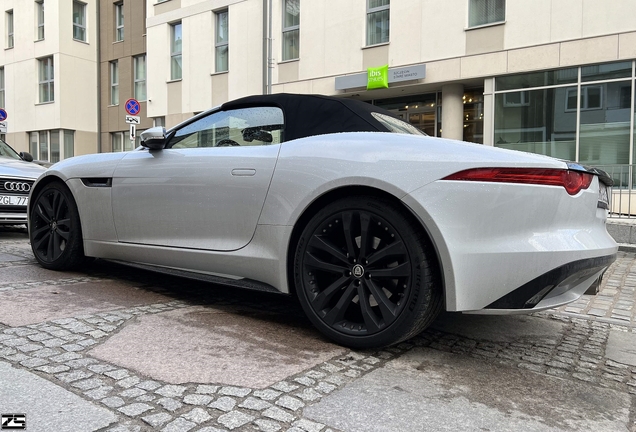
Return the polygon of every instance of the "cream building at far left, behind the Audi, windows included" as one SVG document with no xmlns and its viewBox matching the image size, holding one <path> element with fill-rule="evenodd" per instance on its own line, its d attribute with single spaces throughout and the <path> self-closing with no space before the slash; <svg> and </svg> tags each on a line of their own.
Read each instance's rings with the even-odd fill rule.
<svg viewBox="0 0 636 432">
<path fill-rule="evenodd" d="M 97 148 L 95 0 L 2 0 L 5 139 L 56 162 Z"/>
</svg>

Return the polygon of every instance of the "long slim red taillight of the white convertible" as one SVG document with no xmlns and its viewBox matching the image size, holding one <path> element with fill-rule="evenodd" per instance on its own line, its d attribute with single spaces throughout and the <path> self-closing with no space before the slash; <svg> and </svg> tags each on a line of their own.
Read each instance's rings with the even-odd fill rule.
<svg viewBox="0 0 636 432">
<path fill-rule="evenodd" d="M 474 168 L 444 177 L 442 180 L 461 180 L 497 183 L 525 183 L 563 186 L 570 195 L 590 187 L 592 174 L 579 171 L 546 168 Z"/>
</svg>

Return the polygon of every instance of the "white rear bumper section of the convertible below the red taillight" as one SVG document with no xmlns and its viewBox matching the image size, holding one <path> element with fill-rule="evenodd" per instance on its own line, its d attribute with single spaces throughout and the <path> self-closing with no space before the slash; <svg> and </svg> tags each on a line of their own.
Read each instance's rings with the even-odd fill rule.
<svg viewBox="0 0 636 432">
<path fill-rule="evenodd" d="M 598 199 L 597 177 L 575 196 L 554 186 L 438 181 L 403 198 L 435 244 L 446 310 L 482 313 L 530 313 L 582 295 L 618 251 Z M 522 287 L 527 295 L 513 294 Z M 519 299 L 497 303 L 509 295 Z"/>
</svg>

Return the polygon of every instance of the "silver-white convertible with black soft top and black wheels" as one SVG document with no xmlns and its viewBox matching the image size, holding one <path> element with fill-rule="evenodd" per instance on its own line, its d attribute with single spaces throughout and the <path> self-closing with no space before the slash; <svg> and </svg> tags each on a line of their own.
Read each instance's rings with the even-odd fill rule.
<svg viewBox="0 0 636 432">
<path fill-rule="evenodd" d="M 355 348 L 440 312 L 576 300 L 615 259 L 610 178 L 534 154 L 432 138 L 364 102 L 250 96 L 75 157 L 36 182 L 29 231 L 49 269 L 85 257 L 297 296 Z"/>
</svg>

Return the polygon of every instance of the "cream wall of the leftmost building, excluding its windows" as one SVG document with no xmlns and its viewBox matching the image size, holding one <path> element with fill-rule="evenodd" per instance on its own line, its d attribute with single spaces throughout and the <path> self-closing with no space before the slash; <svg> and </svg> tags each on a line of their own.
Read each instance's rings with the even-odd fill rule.
<svg viewBox="0 0 636 432">
<path fill-rule="evenodd" d="M 44 40 L 36 40 L 35 2 L 0 0 L 0 41 L 6 46 L 5 12 L 13 9 L 15 43 L 0 50 L 5 69 L 7 139 L 28 151 L 28 132 L 69 129 L 76 132 L 76 154 L 97 151 L 96 0 L 87 4 L 87 42 L 73 40 L 72 2 L 46 0 Z M 54 60 L 54 102 L 39 103 L 38 58 Z M 79 144 L 78 136 L 82 137 Z M 79 144 L 79 147 L 78 147 Z"/>
</svg>

